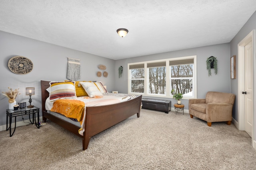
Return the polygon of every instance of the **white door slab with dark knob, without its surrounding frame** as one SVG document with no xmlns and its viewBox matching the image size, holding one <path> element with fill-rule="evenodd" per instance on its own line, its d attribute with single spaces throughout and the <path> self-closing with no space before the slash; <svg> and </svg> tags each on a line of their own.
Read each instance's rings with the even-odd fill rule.
<svg viewBox="0 0 256 170">
<path fill-rule="evenodd" d="M 245 131 L 252 137 L 252 93 L 253 93 L 253 60 L 252 60 L 252 41 L 244 46 L 244 113 Z"/>
</svg>

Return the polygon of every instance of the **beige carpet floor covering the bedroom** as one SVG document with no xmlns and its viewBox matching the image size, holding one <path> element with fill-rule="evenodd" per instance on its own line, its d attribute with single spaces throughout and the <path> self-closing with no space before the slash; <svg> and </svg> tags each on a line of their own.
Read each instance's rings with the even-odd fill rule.
<svg viewBox="0 0 256 170">
<path fill-rule="evenodd" d="M 0 132 L 0 169 L 14 170 L 255 170 L 252 139 L 233 124 L 212 123 L 189 114 L 142 109 L 82 139 L 48 121 Z"/>
</svg>

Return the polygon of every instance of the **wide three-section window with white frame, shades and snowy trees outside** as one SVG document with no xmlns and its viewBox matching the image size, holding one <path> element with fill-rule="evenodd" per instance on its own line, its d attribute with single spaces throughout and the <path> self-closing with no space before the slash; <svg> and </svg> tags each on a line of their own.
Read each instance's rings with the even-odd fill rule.
<svg viewBox="0 0 256 170">
<path fill-rule="evenodd" d="M 196 56 L 128 64 L 128 93 L 183 99 L 196 98 Z"/>
</svg>

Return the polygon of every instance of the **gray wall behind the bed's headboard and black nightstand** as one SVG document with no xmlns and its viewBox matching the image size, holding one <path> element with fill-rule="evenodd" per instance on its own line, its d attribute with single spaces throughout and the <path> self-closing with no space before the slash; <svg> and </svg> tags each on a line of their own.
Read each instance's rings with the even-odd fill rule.
<svg viewBox="0 0 256 170">
<path fill-rule="evenodd" d="M 8 68 L 8 61 L 14 56 L 30 59 L 34 65 L 33 70 L 25 75 L 11 72 Z M 41 110 L 40 80 L 67 80 L 67 57 L 80 59 L 80 80 L 102 81 L 107 86 L 107 90 L 111 92 L 114 90 L 114 60 L 0 31 L 0 92 L 8 91 L 8 87 L 20 88 L 21 94 L 16 98 L 16 102 L 27 102 L 29 105 L 29 96 L 25 95 L 25 89 L 26 87 L 35 87 L 36 92 L 32 96 L 32 105 L 40 107 Z M 96 73 L 101 71 L 98 68 L 99 64 L 106 66 L 107 78 L 97 77 Z M 4 95 L 0 95 L 0 108 L 0 125 L 5 125 L 8 98 Z M 41 111 L 40 116 L 42 116 Z M 25 116 L 24 119 L 28 119 L 28 117 Z M 21 117 L 17 119 L 17 121 L 20 120 L 22 120 Z"/>
</svg>

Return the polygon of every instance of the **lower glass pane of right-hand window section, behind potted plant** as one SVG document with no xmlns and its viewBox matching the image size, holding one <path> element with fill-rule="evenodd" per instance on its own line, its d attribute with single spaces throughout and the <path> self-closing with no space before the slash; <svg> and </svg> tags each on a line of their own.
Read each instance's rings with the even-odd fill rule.
<svg viewBox="0 0 256 170">
<path fill-rule="evenodd" d="M 174 89 L 174 94 L 182 93 L 183 96 L 192 96 L 193 79 L 173 79 L 171 89 Z"/>
</svg>

